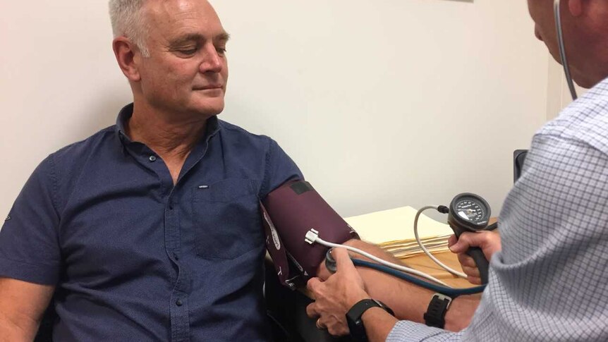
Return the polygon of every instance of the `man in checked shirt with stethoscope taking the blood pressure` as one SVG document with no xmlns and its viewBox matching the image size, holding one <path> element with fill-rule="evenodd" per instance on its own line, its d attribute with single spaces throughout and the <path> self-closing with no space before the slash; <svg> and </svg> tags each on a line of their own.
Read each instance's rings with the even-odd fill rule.
<svg viewBox="0 0 608 342">
<path fill-rule="evenodd" d="M 369 341 L 608 341 L 608 1 L 557 3 L 566 65 L 576 83 L 592 89 L 535 134 L 504 203 L 502 250 L 492 255 L 472 322 L 449 332 L 373 306 L 358 317 Z M 528 0 L 528 8 L 536 37 L 561 62 L 554 1 Z M 336 274 L 308 283 L 316 298 L 308 314 L 344 334 L 344 315 L 376 289 L 363 283 L 345 250 L 335 257 Z M 398 288 L 384 295 L 415 300 Z"/>
</svg>

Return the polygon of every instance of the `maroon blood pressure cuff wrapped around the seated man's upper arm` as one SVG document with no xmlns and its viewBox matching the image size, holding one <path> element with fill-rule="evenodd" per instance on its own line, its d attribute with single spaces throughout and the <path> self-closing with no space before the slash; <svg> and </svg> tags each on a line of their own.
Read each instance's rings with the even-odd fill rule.
<svg viewBox="0 0 608 342">
<path fill-rule="evenodd" d="M 331 243 L 359 238 L 306 181 L 289 181 L 269 193 L 260 204 L 267 250 L 279 281 L 289 288 L 316 276 L 327 252 L 325 246 L 305 241 L 310 229 Z"/>
</svg>

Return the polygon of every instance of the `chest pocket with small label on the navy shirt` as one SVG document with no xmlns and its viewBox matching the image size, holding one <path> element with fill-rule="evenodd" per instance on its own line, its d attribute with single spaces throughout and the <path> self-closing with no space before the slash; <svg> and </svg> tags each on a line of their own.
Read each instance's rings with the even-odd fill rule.
<svg viewBox="0 0 608 342">
<path fill-rule="evenodd" d="M 234 259 L 264 245 L 257 182 L 228 178 L 194 191 L 198 256 Z"/>
</svg>

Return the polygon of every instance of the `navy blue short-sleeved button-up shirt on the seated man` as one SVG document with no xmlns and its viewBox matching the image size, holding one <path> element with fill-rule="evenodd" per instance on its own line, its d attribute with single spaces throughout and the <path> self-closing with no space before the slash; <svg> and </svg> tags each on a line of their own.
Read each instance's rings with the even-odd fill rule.
<svg viewBox="0 0 608 342">
<path fill-rule="evenodd" d="M 56 286 L 55 341 L 263 341 L 258 201 L 296 164 L 215 116 L 174 186 L 123 123 L 51 154 L 0 231 L 0 276 Z"/>
</svg>

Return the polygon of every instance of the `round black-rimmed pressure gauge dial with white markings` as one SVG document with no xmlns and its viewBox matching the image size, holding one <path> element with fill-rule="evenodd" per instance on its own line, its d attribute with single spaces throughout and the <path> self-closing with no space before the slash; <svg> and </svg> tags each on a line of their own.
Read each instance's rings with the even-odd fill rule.
<svg viewBox="0 0 608 342">
<path fill-rule="evenodd" d="M 449 209 L 450 226 L 464 231 L 482 231 L 490 220 L 490 205 L 481 196 L 472 193 L 456 195 Z"/>
</svg>

